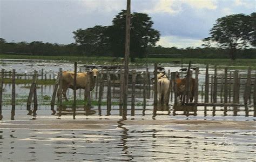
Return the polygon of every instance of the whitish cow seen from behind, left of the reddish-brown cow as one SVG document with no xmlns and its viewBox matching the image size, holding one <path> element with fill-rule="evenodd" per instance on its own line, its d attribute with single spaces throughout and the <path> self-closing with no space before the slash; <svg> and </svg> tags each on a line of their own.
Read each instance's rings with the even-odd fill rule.
<svg viewBox="0 0 256 162">
<path fill-rule="evenodd" d="M 169 105 L 169 86 L 170 80 L 167 78 L 165 73 L 160 72 L 157 75 L 157 100 L 158 104 Z"/>
</svg>

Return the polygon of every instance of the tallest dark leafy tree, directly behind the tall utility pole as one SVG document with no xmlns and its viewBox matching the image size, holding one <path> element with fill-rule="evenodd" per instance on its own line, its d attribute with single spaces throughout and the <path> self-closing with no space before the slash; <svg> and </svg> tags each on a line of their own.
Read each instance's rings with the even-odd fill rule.
<svg viewBox="0 0 256 162">
<path fill-rule="evenodd" d="M 126 10 L 122 10 L 113 18 L 113 25 L 109 26 L 113 56 L 124 57 L 125 53 L 125 20 Z M 148 46 L 155 46 L 159 40 L 159 31 L 152 28 L 153 21 L 147 14 L 131 13 L 130 58 L 144 57 Z"/>
</svg>

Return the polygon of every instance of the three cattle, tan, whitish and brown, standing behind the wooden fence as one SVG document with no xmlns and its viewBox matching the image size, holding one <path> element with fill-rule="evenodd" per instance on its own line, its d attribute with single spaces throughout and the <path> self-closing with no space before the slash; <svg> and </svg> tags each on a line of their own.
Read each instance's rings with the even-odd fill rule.
<svg viewBox="0 0 256 162">
<path fill-rule="evenodd" d="M 98 77 L 99 71 L 97 69 L 90 70 L 90 75 L 87 75 L 87 72 L 78 72 L 77 73 L 77 82 L 76 89 L 87 89 L 87 77 L 90 77 L 90 91 L 92 91 L 96 84 L 96 78 Z M 62 73 L 62 95 L 65 100 L 68 100 L 66 96 L 66 91 L 68 88 L 74 90 L 74 72 L 63 71 Z M 176 85 L 177 85 L 177 96 L 182 99 L 182 96 L 186 89 L 186 78 L 181 79 L 179 74 L 176 76 Z M 153 78 L 152 78 L 153 79 Z M 152 80 L 151 79 L 151 80 Z M 191 79 L 190 83 L 190 102 L 193 101 L 194 98 L 194 78 Z M 169 105 L 169 97 L 170 97 L 170 79 L 165 75 L 165 72 L 158 72 L 157 75 L 157 99 L 158 104 L 160 105 Z M 59 91 L 58 91 L 59 92 Z M 58 98 L 62 95 L 57 93 Z"/>
</svg>

